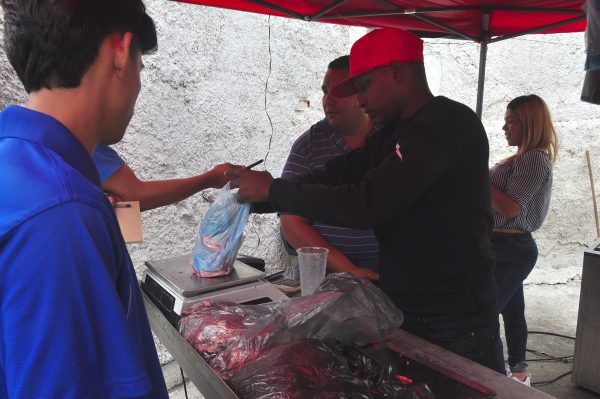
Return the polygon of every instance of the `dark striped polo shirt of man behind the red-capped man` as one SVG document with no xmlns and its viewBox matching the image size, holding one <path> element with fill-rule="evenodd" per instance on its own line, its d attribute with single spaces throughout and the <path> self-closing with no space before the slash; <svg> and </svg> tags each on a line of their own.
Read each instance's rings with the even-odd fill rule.
<svg viewBox="0 0 600 399">
<path fill-rule="evenodd" d="M 326 119 L 304 132 L 290 151 L 281 177 L 291 179 L 323 168 L 327 161 L 350 151 L 341 136 L 336 134 Z M 363 264 L 376 260 L 379 244 L 372 230 L 330 226 L 312 221 L 313 227 L 353 263 Z"/>
</svg>

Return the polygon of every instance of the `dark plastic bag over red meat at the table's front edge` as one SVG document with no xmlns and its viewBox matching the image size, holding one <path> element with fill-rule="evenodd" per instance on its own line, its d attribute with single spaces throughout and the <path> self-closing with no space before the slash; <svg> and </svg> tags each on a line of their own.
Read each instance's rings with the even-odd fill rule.
<svg viewBox="0 0 600 399">
<path fill-rule="evenodd" d="M 244 399 L 434 399 L 425 384 L 398 382 L 390 365 L 335 340 L 275 345 L 247 363 L 230 384 Z"/>
</svg>

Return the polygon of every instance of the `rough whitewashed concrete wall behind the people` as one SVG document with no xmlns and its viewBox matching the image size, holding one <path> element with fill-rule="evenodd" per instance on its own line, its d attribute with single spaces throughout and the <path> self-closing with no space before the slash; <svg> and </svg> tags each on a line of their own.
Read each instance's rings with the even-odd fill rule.
<svg viewBox="0 0 600 399">
<path fill-rule="evenodd" d="M 347 53 L 365 32 L 163 0 L 146 3 L 158 25 L 159 51 L 144 60 L 136 115 L 116 146 L 143 179 L 184 177 L 221 162 L 260 158 L 279 175 L 294 139 L 322 117 L 320 84 L 328 61 Z M 427 40 L 433 91 L 475 108 L 478 49 L 463 41 Z M 591 152 L 600 176 L 600 121 L 597 106 L 579 100 L 584 58 L 582 33 L 526 36 L 489 47 L 483 122 L 490 164 L 511 153 L 501 127 L 514 96 L 545 98 L 561 138 L 551 209 L 535 235 L 540 259 L 531 282 L 578 278 L 582 251 L 596 237 L 584 154 Z M 0 79 L 0 108 L 25 101 L 1 46 Z M 189 253 L 214 195 L 208 190 L 144 213 L 145 241 L 129 248 L 138 271 L 144 260 Z M 283 264 L 274 216 L 251 216 L 242 252 L 265 258 L 271 268 Z M 164 351 L 161 360 L 169 360 Z"/>
</svg>

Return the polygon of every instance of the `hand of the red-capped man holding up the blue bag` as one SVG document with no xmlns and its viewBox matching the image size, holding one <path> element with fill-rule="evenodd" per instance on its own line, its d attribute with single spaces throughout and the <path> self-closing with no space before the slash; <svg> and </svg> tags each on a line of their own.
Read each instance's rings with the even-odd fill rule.
<svg viewBox="0 0 600 399">
<path fill-rule="evenodd" d="M 257 172 L 245 167 L 235 167 L 225 172 L 231 180 L 231 188 L 239 188 L 240 202 L 264 202 L 269 199 L 273 176 L 269 172 Z"/>
</svg>

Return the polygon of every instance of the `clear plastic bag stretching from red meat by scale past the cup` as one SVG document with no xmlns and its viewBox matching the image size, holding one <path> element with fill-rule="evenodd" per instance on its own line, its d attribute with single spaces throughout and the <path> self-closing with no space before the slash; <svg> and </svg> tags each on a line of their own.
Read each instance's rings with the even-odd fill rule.
<svg viewBox="0 0 600 399">
<path fill-rule="evenodd" d="M 229 380 L 271 346 L 306 338 L 381 342 L 401 324 L 402 313 L 379 288 L 337 273 L 310 296 L 261 305 L 205 301 L 184 312 L 180 331 Z"/>
</svg>

